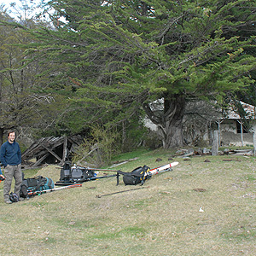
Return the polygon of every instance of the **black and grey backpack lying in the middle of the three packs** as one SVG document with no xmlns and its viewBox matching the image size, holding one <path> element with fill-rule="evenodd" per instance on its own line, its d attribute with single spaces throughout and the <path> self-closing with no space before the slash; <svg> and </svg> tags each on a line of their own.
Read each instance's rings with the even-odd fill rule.
<svg viewBox="0 0 256 256">
<path fill-rule="evenodd" d="M 95 172 L 82 166 L 71 166 L 65 163 L 61 168 L 60 182 L 62 183 L 81 183 L 90 177 L 95 177 Z"/>
</svg>

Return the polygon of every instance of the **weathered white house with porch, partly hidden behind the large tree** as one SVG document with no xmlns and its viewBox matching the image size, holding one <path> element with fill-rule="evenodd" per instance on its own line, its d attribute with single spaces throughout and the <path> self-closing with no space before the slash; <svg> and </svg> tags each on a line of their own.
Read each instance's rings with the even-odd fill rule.
<svg viewBox="0 0 256 256">
<path fill-rule="evenodd" d="M 154 111 L 163 108 L 163 100 L 155 101 Z M 189 113 L 192 113 L 189 115 Z M 238 113 L 242 113 L 241 115 Z M 148 118 L 145 126 L 151 131 L 158 131 Z M 253 145 L 253 133 L 256 131 L 256 107 L 240 102 L 240 111 L 234 104 L 222 110 L 216 104 L 207 102 L 189 102 L 183 119 L 183 135 L 188 145 L 199 145 L 204 142 L 212 145 L 213 131 L 219 131 L 220 146 Z"/>
</svg>

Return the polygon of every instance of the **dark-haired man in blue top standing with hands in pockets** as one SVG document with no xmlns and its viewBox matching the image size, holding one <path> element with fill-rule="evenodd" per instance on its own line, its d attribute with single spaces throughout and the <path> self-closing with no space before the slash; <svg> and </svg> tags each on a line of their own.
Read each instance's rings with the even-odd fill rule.
<svg viewBox="0 0 256 256">
<path fill-rule="evenodd" d="M 0 161 L 4 166 L 5 181 L 3 184 L 3 199 L 11 204 L 9 191 L 11 189 L 13 177 L 15 177 L 15 194 L 20 196 L 20 186 L 22 183 L 21 172 L 21 152 L 20 145 L 15 142 L 15 131 L 8 132 L 8 141 L 0 148 Z"/>
</svg>

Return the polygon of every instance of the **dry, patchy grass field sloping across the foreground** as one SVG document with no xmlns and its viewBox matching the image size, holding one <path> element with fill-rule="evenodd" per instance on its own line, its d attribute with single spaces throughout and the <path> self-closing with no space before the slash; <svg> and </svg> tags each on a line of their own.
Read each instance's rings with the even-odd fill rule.
<svg viewBox="0 0 256 256">
<path fill-rule="evenodd" d="M 170 155 L 157 150 L 119 157 L 138 157 L 119 166 L 123 172 L 179 162 L 143 187 L 125 186 L 122 178 L 116 186 L 108 177 L 6 205 L 0 183 L 1 255 L 255 256 L 256 159 Z M 37 174 L 57 181 L 60 169 L 47 166 Z M 106 195 L 128 189 L 136 190 Z"/>
</svg>

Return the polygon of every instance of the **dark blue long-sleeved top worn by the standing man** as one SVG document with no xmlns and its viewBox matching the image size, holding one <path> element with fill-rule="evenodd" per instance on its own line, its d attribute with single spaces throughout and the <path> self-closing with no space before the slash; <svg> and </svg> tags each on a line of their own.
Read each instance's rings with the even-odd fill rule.
<svg viewBox="0 0 256 256">
<path fill-rule="evenodd" d="M 3 143 L 0 148 L 0 161 L 4 167 L 17 166 L 21 163 L 21 151 L 19 143 Z M 1 171 L 0 171 L 1 172 Z"/>
</svg>

